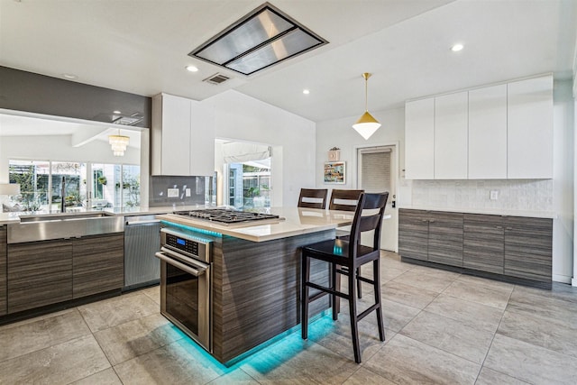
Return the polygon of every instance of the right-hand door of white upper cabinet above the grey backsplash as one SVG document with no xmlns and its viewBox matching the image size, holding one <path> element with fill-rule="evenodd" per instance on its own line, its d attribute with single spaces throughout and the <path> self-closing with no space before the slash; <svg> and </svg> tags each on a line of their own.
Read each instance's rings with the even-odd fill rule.
<svg viewBox="0 0 577 385">
<path fill-rule="evenodd" d="M 190 138 L 190 175 L 215 173 L 215 115 L 212 110 L 192 101 Z"/>
</svg>

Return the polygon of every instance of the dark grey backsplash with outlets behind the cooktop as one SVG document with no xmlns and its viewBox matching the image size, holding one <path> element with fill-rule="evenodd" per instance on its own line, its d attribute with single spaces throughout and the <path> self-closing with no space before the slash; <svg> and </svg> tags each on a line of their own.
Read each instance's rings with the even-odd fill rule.
<svg viewBox="0 0 577 385">
<path fill-rule="evenodd" d="M 151 177 L 149 206 L 205 205 L 207 177 Z M 168 189 L 178 188 L 178 197 L 169 197 Z M 190 197 L 187 189 L 190 188 Z"/>
</svg>

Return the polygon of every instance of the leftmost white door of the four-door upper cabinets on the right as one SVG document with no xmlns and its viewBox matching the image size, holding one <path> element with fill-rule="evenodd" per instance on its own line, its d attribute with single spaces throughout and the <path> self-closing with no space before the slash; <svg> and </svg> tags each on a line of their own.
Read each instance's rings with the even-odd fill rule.
<svg viewBox="0 0 577 385">
<path fill-rule="evenodd" d="M 405 178 L 435 178 L 435 99 L 405 105 Z"/>
</svg>

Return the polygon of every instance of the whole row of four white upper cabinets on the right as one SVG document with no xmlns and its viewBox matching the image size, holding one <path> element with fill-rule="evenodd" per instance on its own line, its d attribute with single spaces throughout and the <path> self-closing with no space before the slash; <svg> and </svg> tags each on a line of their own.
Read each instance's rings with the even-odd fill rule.
<svg viewBox="0 0 577 385">
<path fill-rule="evenodd" d="M 553 77 L 405 104 L 407 179 L 552 179 Z"/>
</svg>

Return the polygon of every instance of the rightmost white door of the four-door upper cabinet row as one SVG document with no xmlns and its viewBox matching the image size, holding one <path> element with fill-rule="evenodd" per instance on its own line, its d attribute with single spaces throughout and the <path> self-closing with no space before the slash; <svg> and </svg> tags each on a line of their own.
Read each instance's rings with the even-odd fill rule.
<svg viewBox="0 0 577 385">
<path fill-rule="evenodd" d="M 508 179 L 553 178 L 553 77 L 508 83 Z"/>
</svg>

